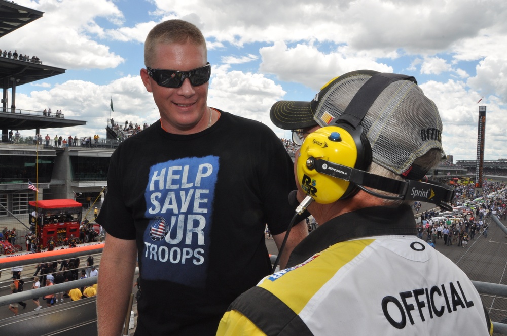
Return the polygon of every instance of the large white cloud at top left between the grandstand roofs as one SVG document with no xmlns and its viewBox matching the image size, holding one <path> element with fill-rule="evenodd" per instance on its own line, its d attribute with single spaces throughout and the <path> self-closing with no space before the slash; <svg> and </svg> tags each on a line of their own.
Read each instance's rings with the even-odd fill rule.
<svg viewBox="0 0 507 336">
<path fill-rule="evenodd" d="M 3 37 L 3 46 L 13 46 L 18 53 L 35 55 L 44 64 L 67 69 L 114 68 L 124 62 L 106 44 L 95 40 L 105 37 L 98 18 L 113 24 L 123 18 L 112 1 L 20 0 L 18 3 L 42 11 L 44 15 Z"/>
</svg>

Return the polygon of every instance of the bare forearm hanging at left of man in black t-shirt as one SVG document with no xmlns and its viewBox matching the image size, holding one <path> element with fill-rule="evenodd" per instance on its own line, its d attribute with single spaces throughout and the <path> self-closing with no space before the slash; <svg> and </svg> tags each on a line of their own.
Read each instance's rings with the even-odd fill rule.
<svg viewBox="0 0 507 336">
<path fill-rule="evenodd" d="M 129 294 L 132 291 L 137 246 L 135 240 L 124 240 L 108 234 L 100 260 L 98 275 L 98 335 L 121 335 Z"/>
</svg>

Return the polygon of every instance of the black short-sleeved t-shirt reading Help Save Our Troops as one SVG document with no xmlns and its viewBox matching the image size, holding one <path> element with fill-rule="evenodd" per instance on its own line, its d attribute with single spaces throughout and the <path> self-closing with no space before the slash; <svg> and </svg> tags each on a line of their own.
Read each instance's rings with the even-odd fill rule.
<svg viewBox="0 0 507 336">
<path fill-rule="evenodd" d="M 294 214 L 293 163 L 264 124 L 221 111 L 197 134 L 160 121 L 111 157 L 96 220 L 136 239 L 143 284 L 136 334 L 212 334 L 229 304 L 269 274 L 264 241 Z"/>
</svg>

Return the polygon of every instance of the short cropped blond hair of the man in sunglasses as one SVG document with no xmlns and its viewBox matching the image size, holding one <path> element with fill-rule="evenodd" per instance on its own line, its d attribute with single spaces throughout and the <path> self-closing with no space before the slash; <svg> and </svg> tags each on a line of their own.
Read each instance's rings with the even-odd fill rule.
<svg viewBox="0 0 507 336">
<path fill-rule="evenodd" d="M 202 32 L 194 24 L 184 20 L 167 20 L 157 24 L 150 30 L 144 41 L 144 65 L 151 67 L 155 48 L 159 44 L 192 44 L 204 48 L 207 59 L 206 40 Z"/>
</svg>

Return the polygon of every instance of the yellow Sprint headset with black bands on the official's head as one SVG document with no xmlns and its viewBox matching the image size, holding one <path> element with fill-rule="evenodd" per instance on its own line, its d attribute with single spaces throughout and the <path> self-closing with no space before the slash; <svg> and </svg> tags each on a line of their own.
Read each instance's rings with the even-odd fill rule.
<svg viewBox="0 0 507 336">
<path fill-rule="evenodd" d="M 411 76 L 375 72 L 340 117 L 306 137 L 300 149 L 297 175 L 301 188 L 314 201 L 329 204 L 364 190 L 381 198 L 431 202 L 452 209 L 444 203 L 454 197 L 454 189 L 447 185 L 435 181 L 399 181 L 366 172 L 372 162 L 372 149 L 359 124 L 382 91 L 390 83 L 403 79 L 417 83 Z M 381 195 L 365 187 L 397 196 Z"/>
</svg>

